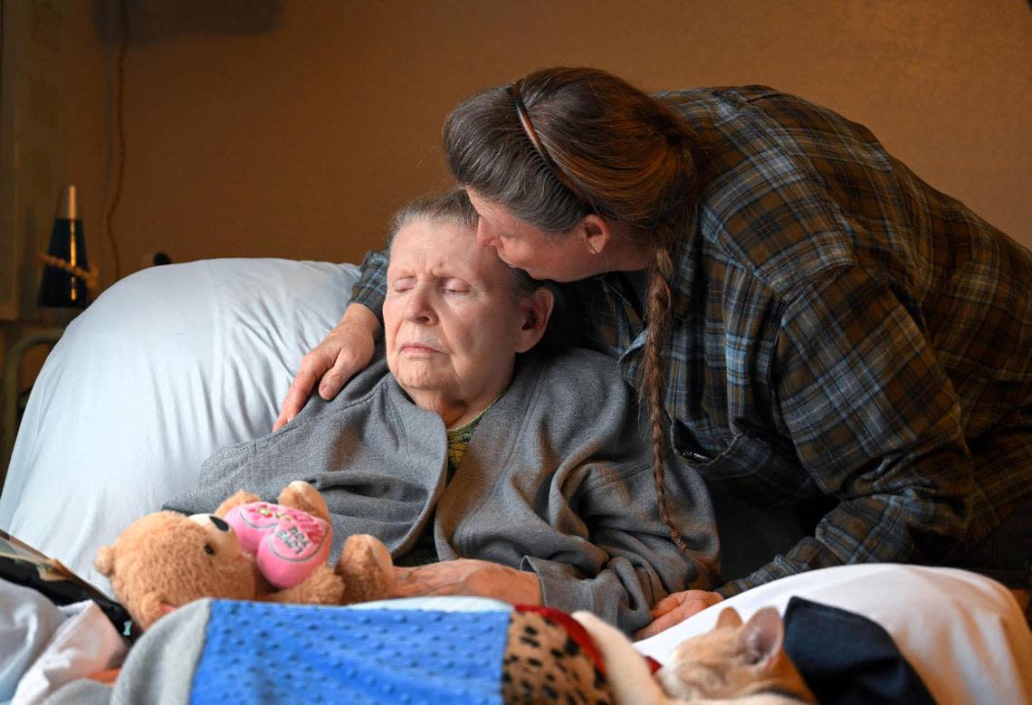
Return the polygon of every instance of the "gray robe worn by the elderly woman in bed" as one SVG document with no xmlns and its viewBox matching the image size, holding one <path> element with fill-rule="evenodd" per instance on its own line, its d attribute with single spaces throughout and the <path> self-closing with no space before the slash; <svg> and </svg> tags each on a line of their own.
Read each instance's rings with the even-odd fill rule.
<svg viewBox="0 0 1032 705">
<path fill-rule="evenodd" d="M 659 517 L 646 438 L 611 359 L 531 352 L 446 484 L 441 418 L 416 407 L 381 358 L 333 400 L 313 397 L 279 431 L 217 452 L 198 490 L 167 507 L 208 512 L 238 489 L 271 501 L 307 480 L 329 506 L 333 555 L 356 533 L 404 555 L 432 521 L 441 559 L 534 571 L 545 605 L 590 610 L 631 631 L 649 622 L 657 600 L 709 586 L 717 569 L 703 481 L 672 456 L 668 505 L 689 556 Z"/>
</svg>

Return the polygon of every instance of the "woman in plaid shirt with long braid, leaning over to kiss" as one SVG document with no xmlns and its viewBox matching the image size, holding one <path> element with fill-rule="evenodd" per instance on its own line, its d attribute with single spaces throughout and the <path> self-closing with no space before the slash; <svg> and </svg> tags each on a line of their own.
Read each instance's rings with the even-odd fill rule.
<svg viewBox="0 0 1032 705">
<path fill-rule="evenodd" d="M 449 166 L 478 243 L 560 283 L 582 342 L 716 488 L 798 508 L 809 535 L 651 633 L 748 587 L 848 563 L 956 566 L 1027 604 L 1032 254 L 863 126 L 764 87 L 645 94 L 537 71 L 461 103 Z M 278 424 L 372 355 L 383 257 L 305 357 Z"/>
</svg>

